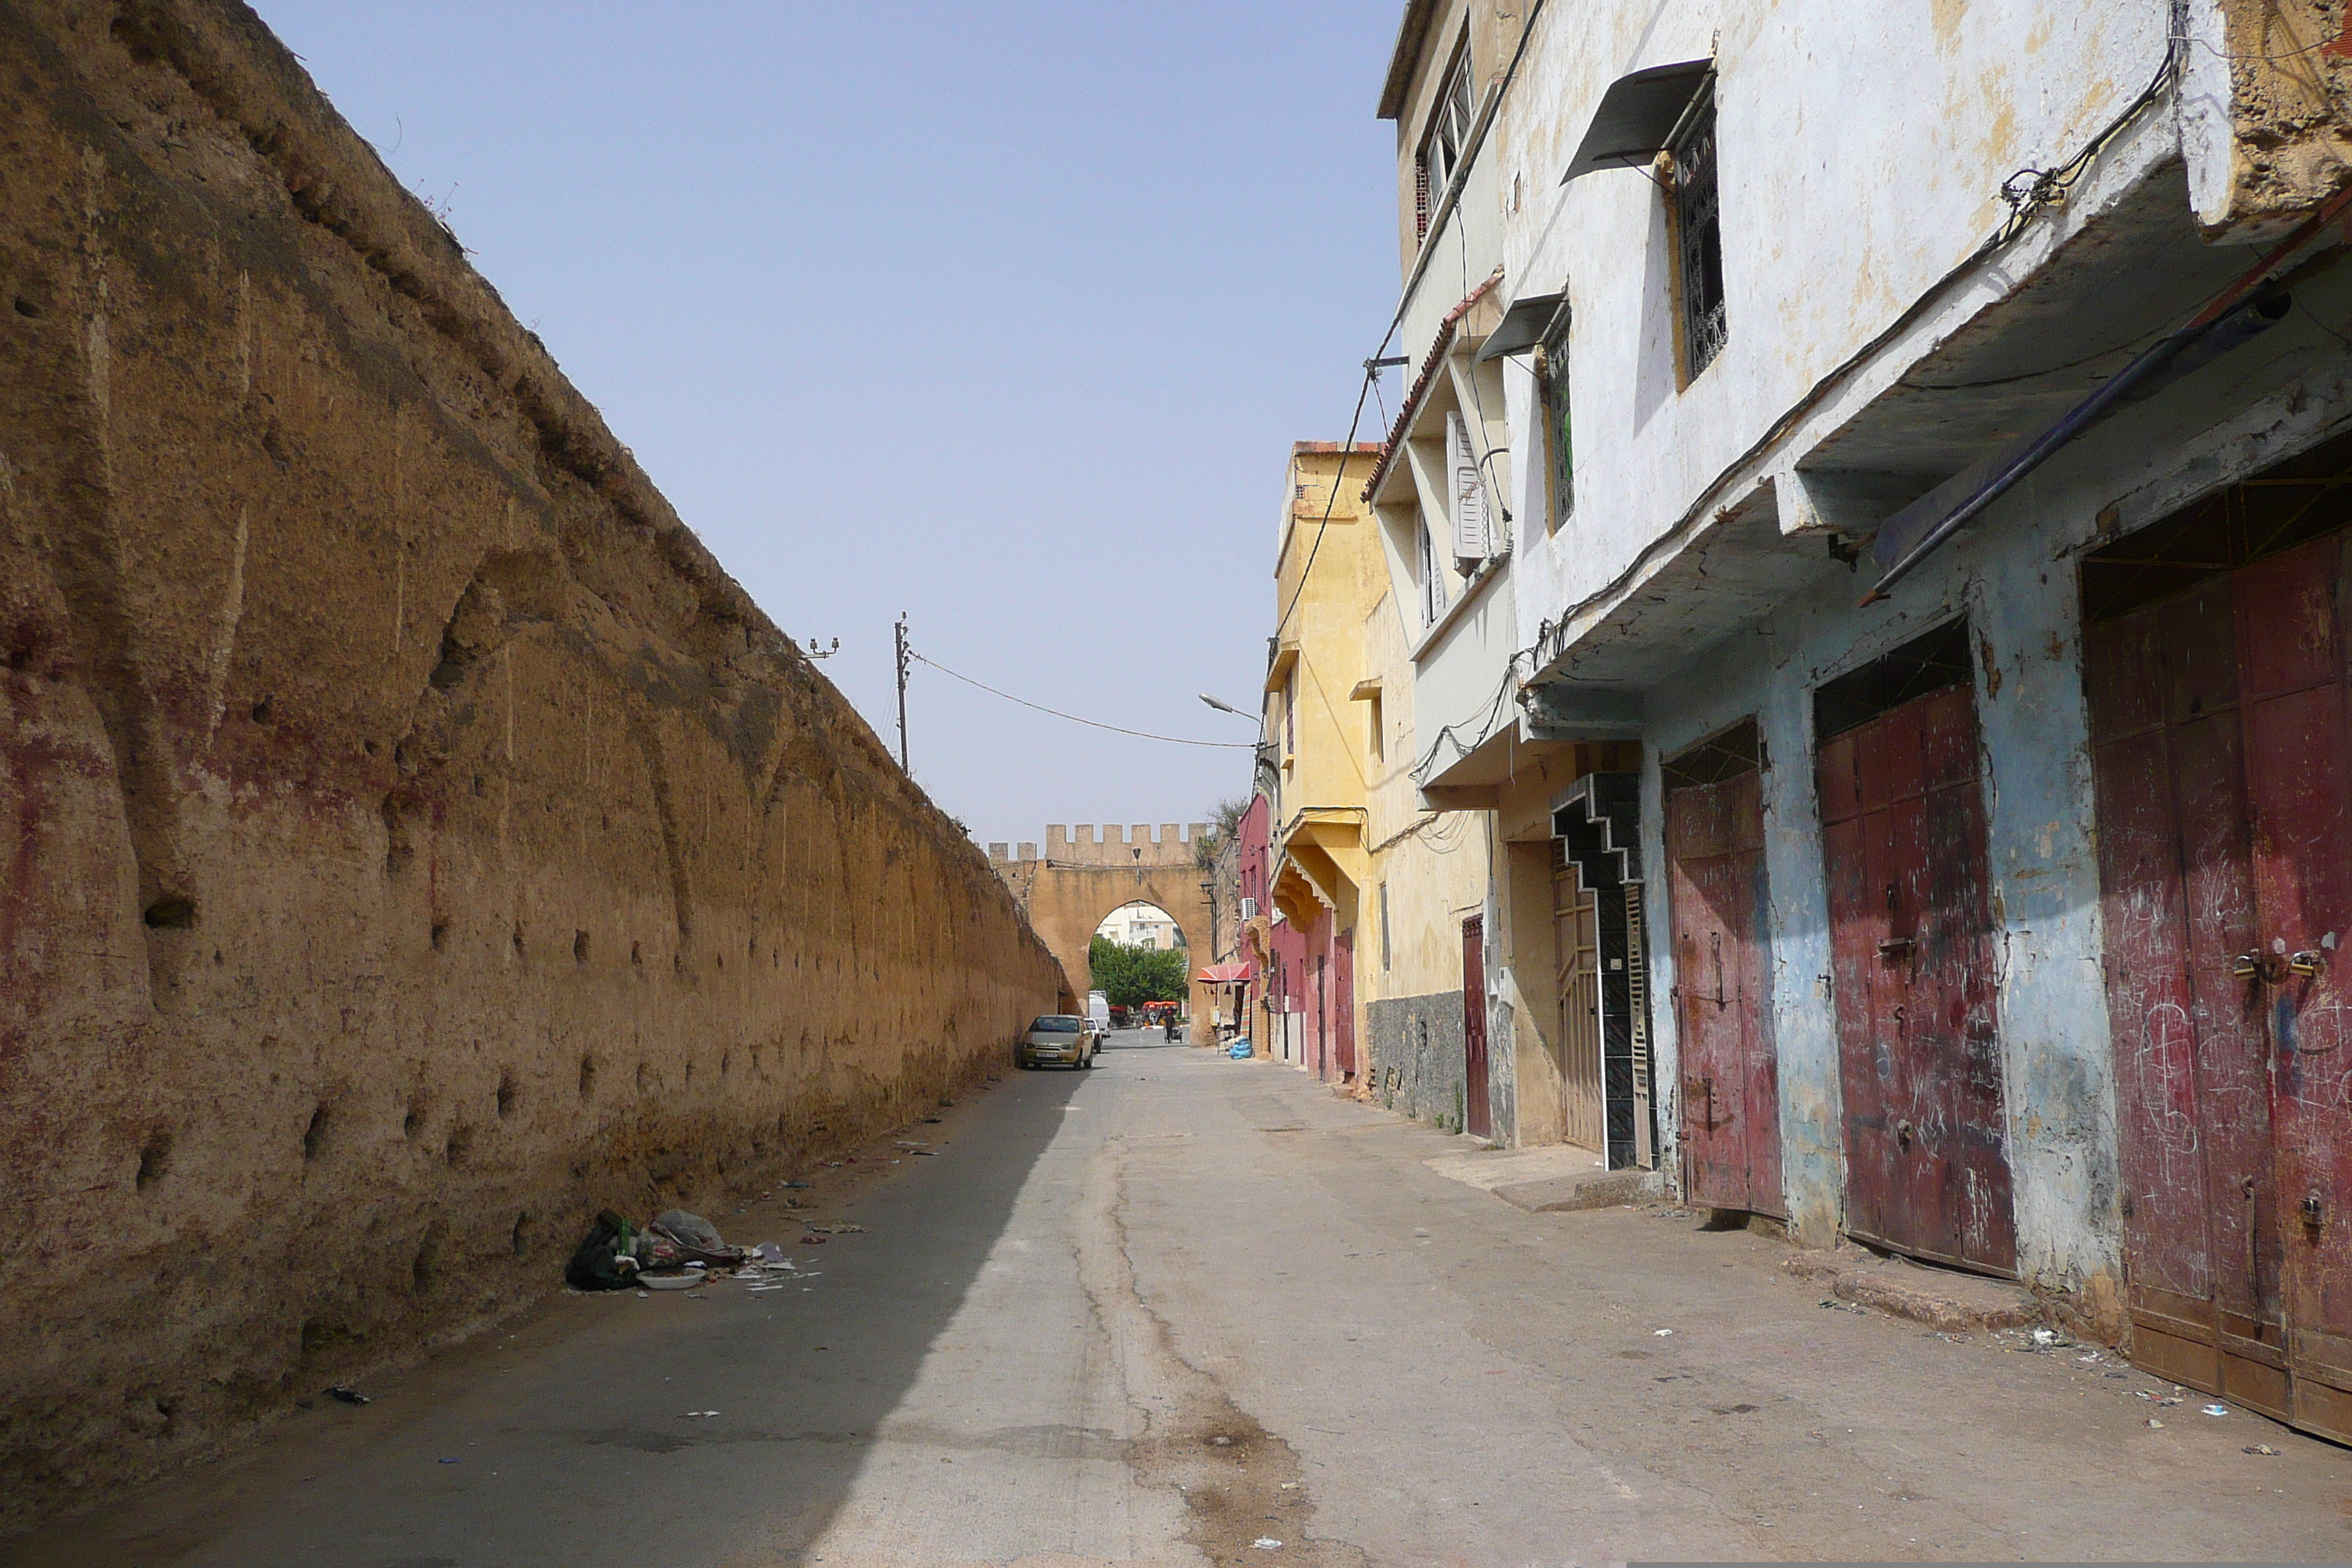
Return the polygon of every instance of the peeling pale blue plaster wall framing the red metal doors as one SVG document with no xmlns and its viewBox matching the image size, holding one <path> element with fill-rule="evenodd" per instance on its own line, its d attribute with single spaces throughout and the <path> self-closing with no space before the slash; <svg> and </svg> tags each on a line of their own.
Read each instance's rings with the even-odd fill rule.
<svg viewBox="0 0 2352 1568">
<path fill-rule="evenodd" d="M 1987 851 L 2018 1267 L 2110 1338 L 2124 1333 L 2119 1143 L 2098 912 L 2096 799 L 2082 691 L 2074 557 L 2343 430 L 2352 378 L 2324 320 L 2232 364 L 2230 395 L 2183 386 L 2060 451 L 1959 534 L 1886 604 L 1823 564 L 1811 590 L 1649 691 L 1644 856 L 1663 865 L 1658 757 L 1755 715 L 1769 771 L 1764 830 L 1790 1220 L 1820 1246 L 1842 1218 L 1844 1152 L 1828 903 L 1813 792 L 1813 701 L 1825 679 L 1966 611 L 1985 755 Z M 1651 903 L 1653 994 L 1675 985 L 1665 900 Z M 1658 1084 L 1682 1081 L 1658 1011 Z M 1665 1119 L 1679 1117 L 1668 1107 Z"/>
</svg>

